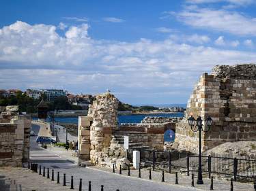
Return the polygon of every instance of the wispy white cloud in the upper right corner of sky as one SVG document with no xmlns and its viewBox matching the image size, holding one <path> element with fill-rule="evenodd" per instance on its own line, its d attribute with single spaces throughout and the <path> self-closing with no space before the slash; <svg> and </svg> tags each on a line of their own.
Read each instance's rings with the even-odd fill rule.
<svg viewBox="0 0 256 191">
<path fill-rule="evenodd" d="M 238 12 L 212 10 L 210 8 L 186 7 L 175 15 L 178 20 L 192 27 L 233 33 L 235 35 L 256 35 L 256 18 L 244 16 Z"/>
</svg>

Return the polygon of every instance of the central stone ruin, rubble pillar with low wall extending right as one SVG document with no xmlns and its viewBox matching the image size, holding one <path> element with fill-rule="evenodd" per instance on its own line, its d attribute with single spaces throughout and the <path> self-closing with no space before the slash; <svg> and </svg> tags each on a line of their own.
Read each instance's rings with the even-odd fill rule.
<svg viewBox="0 0 256 191">
<path fill-rule="evenodd" d="M 147 118 L 139 124 L 118 124 L 117 107 L 119 101 L 106 92 L 96 96 L 89 105 L 88 115 L 79 117 L 79 161 L 90 160 L 92 164 L 112 167 L 113 163 L 128 163 L 124 150 L 124 136 L 129 137 L 130 148 L 154 148 L 163 150 L 164 133 L 175 131 L 178 118 L 164 120 Z"/>
</svg>

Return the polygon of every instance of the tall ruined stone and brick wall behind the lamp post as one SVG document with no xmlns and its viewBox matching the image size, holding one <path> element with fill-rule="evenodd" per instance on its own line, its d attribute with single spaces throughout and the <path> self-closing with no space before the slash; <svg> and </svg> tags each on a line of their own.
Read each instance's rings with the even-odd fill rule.
<svg viewBox="0 0 256 191">
<path fill-rule="evenodd" d="M 201 75 L 175 134 L 180 150 L 197 152 L 198 133 L 188 126 L 190 115 L 203 120 L 212 117 L 210 131 L 202 133 L 203 150 L 227 141 L 255 140 L 256 66 L 216 66 L 211 75 Z"/>
</svg>

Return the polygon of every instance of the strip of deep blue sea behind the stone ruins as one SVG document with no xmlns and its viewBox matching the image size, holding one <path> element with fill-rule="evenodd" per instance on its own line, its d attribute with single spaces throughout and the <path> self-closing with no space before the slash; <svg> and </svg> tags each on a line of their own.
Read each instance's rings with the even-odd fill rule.
<svg viewBox="0 0 256 191">
<path fill-rule="evenodd" d="M 150 117 L 176 117 L 180 118 L 184 116 L 184 113 L 162 113 L 162 114 L 136 114 L 136 115 L 120 115 L 118 116 L 118 122 L 121 123 L 140 123 L 143 118 L 150 116 Z M 37 118 L 33 118 L 37 120 Z M 55 117 L 55 122 L 61 123 L 72 123 L 78 124 L 79 118 L 78 117 Z"/>
</svg>

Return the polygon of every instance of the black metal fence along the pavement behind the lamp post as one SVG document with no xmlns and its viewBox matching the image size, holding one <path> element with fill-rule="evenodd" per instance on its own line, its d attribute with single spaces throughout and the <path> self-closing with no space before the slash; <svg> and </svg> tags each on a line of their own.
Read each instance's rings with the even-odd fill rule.
<svg viewBox="0 0 256 191">
<path fill-rule="evenodd" d="M 173 155 L 172 152 L 164 152 L 157 150 L 140 150 L 141 162 L 146 166 L 151 166 L 153 171 L 156 167 L 169 171 L 172 169 L 186 172 L 196 172 L 198 168 L 198 157 L 189 154 Z M 248 156 L 240 156 L 233 158 L 231 154 L 216 154 L 211 152 L 209 156 L 202 156 L 203 173 L 207 173 L 209 177 L 212 175 L 221 175 L 225 177 L 233 177 L 236 181 L 246 180 L 255 181 L 256 179 L 256 159 Z"/>
</svg>

